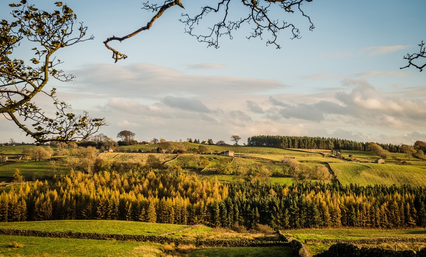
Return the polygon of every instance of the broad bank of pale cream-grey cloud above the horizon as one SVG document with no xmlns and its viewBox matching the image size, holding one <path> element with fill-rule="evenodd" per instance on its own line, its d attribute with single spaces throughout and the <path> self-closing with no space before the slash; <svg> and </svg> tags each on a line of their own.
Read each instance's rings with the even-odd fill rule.
<svg viewBox="0 0 426 257">
<path fill-rule="evenodd" d="M 138 140 L 229 141 L 231 134 L 243 139 L 278 134 L 399 144 L 424 140 L 426 134 L 423 86 L 378 90 L 366 80 L 346 79 L 341 87 L 267 95 L 265 91 L 285 92 L 288 86 L 267 79 L 192 76 L 146 64 L 92 65 L 77 75 L 76 82 L 67 84 L 71 93 L 58 93 L 74 108 L 84 107 L 93 117 L 105 117 L 110 125 L 100 132 L 109 136 L 129 129 Z M 3 141 L 10 137 L 32 141 L 19 139 L 23 135 L 4 118 L 0 130 L 8 135 Z"/>
</svg>

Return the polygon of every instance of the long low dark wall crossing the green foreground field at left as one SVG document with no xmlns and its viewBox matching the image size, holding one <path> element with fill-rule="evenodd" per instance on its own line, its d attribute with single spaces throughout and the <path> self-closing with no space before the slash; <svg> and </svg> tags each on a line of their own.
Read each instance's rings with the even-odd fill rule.
<svg viewBox="0 0 426 257">
<path fill-rule="evenodd" d="M 118 241 L 149 241 L 154 243 L 174 243 L 176 245 L 205 246 L 205 247 L 262 247 L 262 246 L 286 246 L 288 242 L 284 241 L 255 241 L 255 240 L 187 240 L 181 238 L 172 238 L 161 235 L 130 235 L 130 234 L 108 234 L 108 233 L 90 233 L 73 231 L 38 231 L 38 230 L 18 230 L 18 229 L 0 229 L 0 234 L 21 235 L 21 236 L 39 236 L 39 237 L 57 237 L 57 238 L 76 238 L 76 239 L 95 239 Z"/>
</svg>

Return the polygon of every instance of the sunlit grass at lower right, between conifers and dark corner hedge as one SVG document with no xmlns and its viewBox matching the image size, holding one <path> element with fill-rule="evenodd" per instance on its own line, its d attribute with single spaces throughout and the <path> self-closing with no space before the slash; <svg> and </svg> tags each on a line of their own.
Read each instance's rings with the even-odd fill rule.
<svg viewBox="0 0 426 257">
<path fill-rule="evenodd" d="M 368 229 L 305 229 L 282 231 L 286 236 L 296 238 L 305 243 L 306 239 L 376 239 L 376 238 L 426 238 L 425 229 L 407 229 L 407 230 L 368 230 Z M 390 244 L 394 247 L 395 243 Z M 416 251 L 418 245 L 397 244 L 400 250 Z M 321 253 L 331 246 L 331 244 L 307 243 L 306 246 L 312 254 Z M 383 245 L 381 245 L 383 247 Z M 370 247 L 378 247 L 370 245 Z M 423 245 L 426 247 L 426 244 Z M 420 247 L 422 248 L 422 247 Z"/>
</svg>

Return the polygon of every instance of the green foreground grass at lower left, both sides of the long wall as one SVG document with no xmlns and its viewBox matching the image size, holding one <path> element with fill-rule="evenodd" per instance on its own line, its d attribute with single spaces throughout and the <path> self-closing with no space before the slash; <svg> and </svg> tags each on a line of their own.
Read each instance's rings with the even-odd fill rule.
<svg viewBox="0 0 426 257">
<path fill-rule="evenodd" d="M 274 233 L 238 233 L 205 226 L 183 226 L 128 221 L 42 221 L 1 223 L 0 229 L 28 229 L 37 231 L 74 231 L 135 235 L 167 235 L 189 240 L 272 240 Z M 276 235 L 275 235 L 276 237 Z M 137 241 L 50 238 L 35 236 L 0 235 L 0 256 L 283 256 L 294 257 L 286 246 L 273 247 L 201 247 Z"/>
</svg>

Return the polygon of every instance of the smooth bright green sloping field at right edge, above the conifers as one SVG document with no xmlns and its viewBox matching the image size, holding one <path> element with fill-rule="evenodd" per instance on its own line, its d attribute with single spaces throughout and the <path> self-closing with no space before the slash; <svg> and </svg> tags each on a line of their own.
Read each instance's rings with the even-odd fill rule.
<svg viewBox="0 0 426 257">
<path fill-rule="evenodd" d="M 426 186 L 426 169 L 412 165 L 377 163 L 330 163 L 340 183 L 347 185 L 402 185 Z"/>
</svg>

